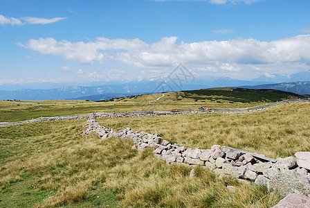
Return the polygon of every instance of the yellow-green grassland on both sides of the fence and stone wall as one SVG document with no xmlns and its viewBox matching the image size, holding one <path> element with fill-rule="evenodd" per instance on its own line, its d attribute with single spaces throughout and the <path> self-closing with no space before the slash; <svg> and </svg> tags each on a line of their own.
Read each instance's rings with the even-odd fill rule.
<svg viewBox="0 0 310 208">
<path fill-rule="evenodd" d="M 234 95 L 231 89 L 214 90 L 225 92 L 169 92 L 158 101 L 154 100 L 161 94 L 107 102 L 1 101 L 0 121 L 95 111 L 247 107 L 272 102 L 275 97 L 268 92 L 257 99 L 239 91 Z M 276 98 L 293 96 L 282 94 Z M 219 144 L 273 158 L 310 150 L 310 103 L 280 105 L 250 114 L 97 120 L 114 130 L 130 127 L 158 133 L 188 148 Z M 85 123 L 86 119 L 79 119 L 1 128 L 0 207 L 272 207 L 282 199 L 266 187 L 219 177 L 201 167 L 190 177 L 189 166 L 166 164 L 151 149 L 131 150 L 133 143 L 127 139 L 99 139 L 95 133 L 82 137 Z M 228 191 L 228 185 L 235 186 L 236 191 Z"/>
</svg>

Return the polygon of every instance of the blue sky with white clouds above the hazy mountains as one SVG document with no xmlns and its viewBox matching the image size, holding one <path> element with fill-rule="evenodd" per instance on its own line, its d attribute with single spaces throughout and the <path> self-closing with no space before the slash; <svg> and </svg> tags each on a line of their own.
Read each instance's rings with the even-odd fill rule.
<svg viewBox="0 0 310 208">
<path fill-rule="evenodd" d="M 309 0 L 0 0 L 0 89 L 310 70 Z"/>
</svg>

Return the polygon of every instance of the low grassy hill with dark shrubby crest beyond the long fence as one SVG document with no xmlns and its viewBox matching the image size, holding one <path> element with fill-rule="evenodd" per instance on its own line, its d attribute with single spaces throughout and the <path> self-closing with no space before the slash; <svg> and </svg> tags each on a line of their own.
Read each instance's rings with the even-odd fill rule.
<svg viewBox="0 0 310 208">
<path fill-rule="evenodd" d="M 218 88 L 186 92 L 167 92 L 115 98 L 104 102 L 92 101 L 0 101 L 0 122 L 36 119 L 40 116 L 85 114 L 90 112 L 131 112 L 140 110 L 197 109 L 201 106 L 251 107 L 287 98 L 302 98 L 296 94 L 276 90 Z"/>
</svg>

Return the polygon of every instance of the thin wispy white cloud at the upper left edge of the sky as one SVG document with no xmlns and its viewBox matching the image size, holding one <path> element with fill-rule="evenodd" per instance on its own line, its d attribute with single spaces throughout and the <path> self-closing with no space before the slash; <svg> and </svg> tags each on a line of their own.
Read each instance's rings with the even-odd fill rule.
<svg viewBox="0 0 310 208">
<path fill-rule="evenodd" d="M 17 19 L 15 17 L 4 17 L 3 15 L 0 15 L 0 25 L 51 24 L 62 19 L 66 19 L 66 17 L 54 17 L 51 19 L 39 17 L 21 17 L 20 19 Z"/>
</svg>

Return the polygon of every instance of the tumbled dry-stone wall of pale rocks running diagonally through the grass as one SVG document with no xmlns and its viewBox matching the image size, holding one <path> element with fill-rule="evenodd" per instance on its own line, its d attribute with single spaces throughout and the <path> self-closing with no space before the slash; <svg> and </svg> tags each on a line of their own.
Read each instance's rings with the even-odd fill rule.
<svg viewBox="0 0 310 208">
<path fill-rule="evenodd" d="M 143 151 L 146 148 L 154 148 L 154 154 L 169 164 L 200 165 L 219 175 L 252 181 L 265 185 L 268 189 L 277 189 L 283 196 L 289 193 L 310 196 L 310 152 L 296 153 L 296 157 L 271 159 L 228 146 L 214 145 L 206 150 L 185 148 L 182 144 L 170 144 L 157 134 L 134 132 L 131 128 L 114 132 L 111 128 L 104 128 L 95 119 L 89 119 L 86 125 L 88 128 L 82 135 L 88 135 L 93 131 L 102 139 L 132 139 L 133 149 Z"/>
</svg>

